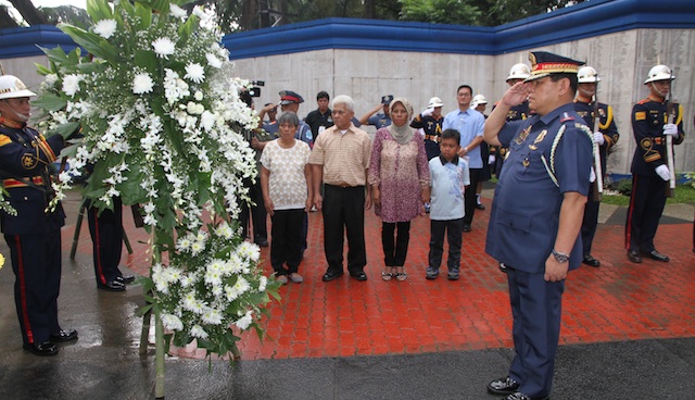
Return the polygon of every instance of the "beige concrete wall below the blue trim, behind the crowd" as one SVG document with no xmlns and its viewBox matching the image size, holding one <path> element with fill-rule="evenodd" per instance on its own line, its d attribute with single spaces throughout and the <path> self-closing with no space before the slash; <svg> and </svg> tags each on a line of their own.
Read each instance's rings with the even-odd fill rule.
<svg viewBox="0 0 695 400">
<path fill-rule="evenodd" d="M 609 158 L 608 171 L 627 174 L 635 148 L 630 126 L 632 105 L 647 96 L 643 82 L 657 59 L 673 68 L 677 77 L 673 96 L 685 111 L 686 139 L 675 147 L 677 171 L 695 171 L 693 49 L 695 29 L 636 29 L 534 50 L 585 60 L 598 71 L 599 101 L 612 105 L 621 134 L 617 151 Z M 456 107 L 455 91 L 462 84 L 471 85 L 476 93 L 485 95 L 493 103 L 506 89 L 504 79 L 509 67 L 518 62 L 528 63 L 527 54 L 526 50 L 475 55 L 329 49 L 235 63 L 238 76 L 265 80 L 257 104 L 278 101 L 278 91 L 282 89 L 294 90 L 304 97 L 305 103 L 300 109 L 300 116 L 304 116 L 316 108 L 316 93 L 326 90 L 331 97 L 352 96 L 355 115 L 361 117 L 379 103 L 382 95 L 406 97 L 415 112 L 424 110 L 430 97 L 438 96 L 444 102 L 443 111 L 448 112 Z M 47 60 L 43 57 L 2 60 L 7 73 L 18 75 L 36 89 L 40 76 L 34 63 L 46 64 Z"/>
</svg>

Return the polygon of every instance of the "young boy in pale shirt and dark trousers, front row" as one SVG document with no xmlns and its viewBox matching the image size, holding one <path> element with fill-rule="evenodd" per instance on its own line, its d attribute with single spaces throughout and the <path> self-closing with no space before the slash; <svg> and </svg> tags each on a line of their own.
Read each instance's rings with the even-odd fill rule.
<svg viewBox="0 0 695 400">
<path fill-rule="evenodd" d="M 460 133 L 445 129 L 440 142 L 441 154 L 430 160 L 430 255 L 428 279 L 439 276 L 444 251 L 444 233 L 448 241 L 447 278 L 458 279 L 460 242 L 464 228 L 464 187 L 470 185 L 468 163 L 458 158 Z"/>
</svg>

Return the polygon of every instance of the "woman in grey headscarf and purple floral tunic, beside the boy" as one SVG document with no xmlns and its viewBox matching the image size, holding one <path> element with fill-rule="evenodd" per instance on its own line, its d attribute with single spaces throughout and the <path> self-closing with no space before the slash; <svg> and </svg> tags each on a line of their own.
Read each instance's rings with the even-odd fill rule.
<svg viewBox="0 0 695 400">
<path fill-rule="evenodd" d="M 422 136 L 409 126 L 413 107 L 404 98 L 390 107 L 392 124 L 377 130 L 369 161 L 368 182 L 377 215 L 386 267 L 383 280 L 405 280 L 405 257 L 410 221 L 425 214 L 430 172 Z"/>
</svg>

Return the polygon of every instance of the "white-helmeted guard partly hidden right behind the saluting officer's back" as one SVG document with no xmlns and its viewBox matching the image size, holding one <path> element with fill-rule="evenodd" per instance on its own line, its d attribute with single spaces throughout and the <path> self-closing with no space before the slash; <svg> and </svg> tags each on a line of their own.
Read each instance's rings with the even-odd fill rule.
<svg viewBox="0 0 695 400">
<path fill-rule="evenodd" d="M 618 142 L 620 135 L 618 127 L 612 117 L 612 108 L 604 103 L 594 103 L 596 96 L 597 83 L 601 82 L 598 73 L 591 66 L 583 66 L 577 73 L 579 87 L 577 89 L 577 99 L 574 99 L 574 110 L 584 118 L 586 126 L 595 129 L 593 139 L 598 145 L 601 153 L 601 171 L 606 175 L 606 155 L 610 148 Z M 594 115 L 598 112 L 598 115 Z M 596 126 L 594 126 L 596 121 Z M 584 221 L 582 222 L 582 246 L 584 253 L 584 264 L 591 266 L 601 266 L 601 262 L 591 255 L 591 245 L 596 234 L 596 225 L 598 225 L 598 205 L 601 201 L 592 200 L 594 196 L 595 185 L 589 189 L 589 200 L 584 209 Z"/>
</svg>

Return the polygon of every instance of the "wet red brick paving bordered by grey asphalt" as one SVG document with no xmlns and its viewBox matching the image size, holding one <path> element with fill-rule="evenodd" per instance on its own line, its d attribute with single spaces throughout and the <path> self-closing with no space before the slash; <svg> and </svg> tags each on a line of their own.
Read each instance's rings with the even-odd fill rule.
<svg viewBox="0 0 695 400">
<path fill-rule="evenodd" d="M 483 202 L 490 208 L 489 199 Z M 437 280 L 425 279 L 429 220 L 418 217 L 412 226 L 407 280 L 382 282 L 381 223 L 370 210 L 366 217 L 365 268 L 369 279 L 356 282 L 345 274 L 324 283 L 323 218 L 320 213 L 311 213 L 309 247 L 300 266 L 305 280 L 282 287 L 281 302 L 269 307 L 271 316 L 263 326 L 270 339 L 261 342 L 255 334 L 243 335 L 242 359 L 511 347 L 506 276 L 484 253 L 488 215 L 488 211 L 476 212 L 472 232 L 464 234 L 460 280 L 448 282 L 445 274 Z M 135 253 L 124 257 L 124 264 L 146 274 L 147 236 L 129 220 L 126 217 L 126 229 Z M 64 251 L 70 250 L 73 232 L 74 225 L 64 229 Z M 661 225 L 657 248 L 669 254 L 671 262 L 645 259 L 643 264 L 632 264 L 622 245 L 623 227 L 599 225 L 593 255 L 602 266 L 582 266 L 570 273 L 560 343 L 694 337 L 695 254 L 691 241 L 692 224 Z M 91 255 L 86 224 L 78 253 Z M 269 259 L 269 248 L 263 249 L 262 258 Z M 271 272 L 269 262 L 265 262 L 265 270 Z M 192 350 L 188 354 L 202 354 Z"/>
</svg>

